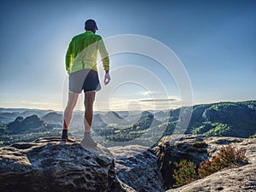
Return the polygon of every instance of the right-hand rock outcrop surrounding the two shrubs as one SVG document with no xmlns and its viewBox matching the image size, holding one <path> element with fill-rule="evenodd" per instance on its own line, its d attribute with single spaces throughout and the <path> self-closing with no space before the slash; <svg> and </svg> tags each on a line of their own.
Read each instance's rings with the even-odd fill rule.
<svg viewBox="0 0 256 192">
<path fill-rule="evenodd" d="M 185 159 L 193 161 L 197 166 L 201 161 L 211 159 L 212 155 L 225 145 L 246 149 L 249 164 L 216 172 L 208 177 L 199 179 L 168 192 L 198 192 L 198 191 L 255 191 L 256 190 L 256 139 L 237 137 L 205 137 L 173 135 L 163 137 L 154 148 L 159 157 L 160 171 L 165 183 L 172 187 L 174 183 L 173 162 Z"/>
</svg>

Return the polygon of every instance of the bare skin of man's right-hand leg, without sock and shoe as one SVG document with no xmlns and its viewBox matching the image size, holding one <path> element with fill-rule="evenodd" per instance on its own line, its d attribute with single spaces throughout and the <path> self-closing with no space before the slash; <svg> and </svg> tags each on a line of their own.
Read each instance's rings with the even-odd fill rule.
<svg viewBox="0 0 256 192">
<path fill-rule="evenodd" d="M 93 118 L 93 102 L 95 100 L 95 91 L 84 93 L 84 132 L 90 132 Z"/>
</svg>

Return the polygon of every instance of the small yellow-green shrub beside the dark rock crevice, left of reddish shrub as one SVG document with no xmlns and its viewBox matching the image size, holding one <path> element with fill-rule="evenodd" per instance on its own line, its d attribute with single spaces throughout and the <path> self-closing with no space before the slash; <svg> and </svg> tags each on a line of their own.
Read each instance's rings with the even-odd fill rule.
<svg viewBox="0 0 256 192">
<path fill-rule="evenodd" d="M 191 183 L 197 178 L 195 172 L 195 163 L 189 160 L 180 160 L 175 163 L 177 170 L 174 170 L 173 177 L 178 186 Z"/>
</svg>

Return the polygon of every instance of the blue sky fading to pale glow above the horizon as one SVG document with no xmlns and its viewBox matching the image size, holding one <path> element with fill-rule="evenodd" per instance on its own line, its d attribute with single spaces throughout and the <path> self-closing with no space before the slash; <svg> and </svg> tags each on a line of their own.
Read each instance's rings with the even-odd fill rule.
<svg viewBox="0 0 256 192">
<path fill-rule="evenodd" d="M 188 76 L 193 104 L 256 99 L 253 0 L 4 0 L 0 9 L 0 108 L 63 110 L 67 46 L 91 18 L 107 49 L 111 37 L 130 34 L 172 50 Z M 150 45 L 143 49 L 166 56 Z M 110 75 L 96 94 L 96 110 L 177 108 L 186 99 L 179 74 L 151 55 L 110 55 Z M 76 109 L 83 108 L 81 94 Z"/>
</svg>

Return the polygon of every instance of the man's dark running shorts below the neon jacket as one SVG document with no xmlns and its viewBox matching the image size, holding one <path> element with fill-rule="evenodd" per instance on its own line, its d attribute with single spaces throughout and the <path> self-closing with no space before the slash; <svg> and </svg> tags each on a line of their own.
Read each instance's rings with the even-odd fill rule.
<svg viewBox="0 0 256 192">
<path fill-rule="evenodd" d="M 94 70 L 83 69 L 69 75 L 69 91 L 81 93 L 81 91 L 101 90 L 98 73 Z"/>
</svg>

